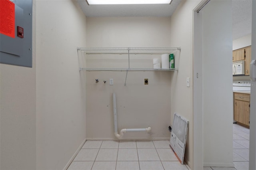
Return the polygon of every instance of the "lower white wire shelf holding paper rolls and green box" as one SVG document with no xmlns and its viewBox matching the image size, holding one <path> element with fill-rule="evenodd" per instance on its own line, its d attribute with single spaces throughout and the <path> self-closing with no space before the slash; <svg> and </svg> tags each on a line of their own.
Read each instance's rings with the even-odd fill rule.
<svg viewBox="0 0 256 170">
<path fill-rule="evenodd" d="M 80 68 L 85 71 L 177 71 L 174 69 L 156 69 L 156 68 Z"/>
</svg>

